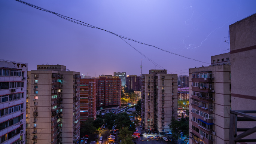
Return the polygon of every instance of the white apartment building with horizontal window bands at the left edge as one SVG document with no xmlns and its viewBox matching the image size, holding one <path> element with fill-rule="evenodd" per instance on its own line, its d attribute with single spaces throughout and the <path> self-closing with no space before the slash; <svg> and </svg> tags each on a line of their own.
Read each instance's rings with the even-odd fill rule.
<svg viewBox="0 0 256 144">
<path fill-rule="evenodd" d="M 0 143 L 25 144 L 28 64 L 0 60 Z"/>
</svg>

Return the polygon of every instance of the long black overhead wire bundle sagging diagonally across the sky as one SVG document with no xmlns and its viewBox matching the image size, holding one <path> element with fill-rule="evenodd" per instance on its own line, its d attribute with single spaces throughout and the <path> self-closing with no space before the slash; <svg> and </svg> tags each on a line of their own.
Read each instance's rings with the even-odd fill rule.
<svg viewBox="0 0 256 144">
<path fill-rule="evenodd" d="M 95 27 L 95 26 L 93 26 L 93 25 L 87 24 L 87 23 L 82 22 L 82 21 L 79 21 L 79 20 L 77 20 L 77 19 L 73 19 L 73 18 L 70 18 L 70 17 L 68 17 L 68 16 L 64 16 L 64 15 L 61 15 L 61 14 L 59 14 L 59 13 L 52 12 L 52 11 L 50 11 L 50 10 L 44 9 L 44 8 L 42 8 L 42 7 L 39 7 L 39 6 L 30 4 L 30 3 L 27 3 L 27 2 L 22 1 L 22 0 L 15 0 L 15 1 L 18 1 L 18 2 L 20 2 L 20 3 L 26 4 L 26 5 L 31 6 L 31 7 L 34 7 L 34 8 L 39 9 L 39 10 L 43 10 L 43 11 L 45 11 L 45 12 L 52 13 L 52 14 L 54 14 L 54 15 L 59 16 L 60 18 L 66 19 L 66 20 L 71 21 L 71 22 L 74 22 L 74 23 L 76 23 L 76 24 L 80 24 L 80 25 L 83 25 L 83 26 L 86 26 L 86 27 L 90 27 L 90 28 L 97 28 L 98 30 L 106 31 L 106 32 L 108 32 L 108 33 L 114 34 L 114 35 L 116 35 L 116 36 L 118 36 L 118 37 L 121 37 L 121 38 L 123 38 L 123 39 L 131 40 L 131 41 L 134 41 L 134 42 L 137 42 L 137 43 L 140 43 L 140 44 L 143 44 L 143 45 L 147 45 L 147 46 L 152 46 L 152 47 L 157 48 L 157 49 L 159 49 L 159 50 L 162 50 L 162 51 L 164 51 L 164 52 L 168 52 L 168 53 L 171 53 L 171 54 L 174 54 L 174 55 L 177 55 L 177 56 L 181 56 L 181 57 L 183 57 L 183 58 L 187 58 L 187 59 L 192 59 L 192 60 L 194 60 L 194 61 L 198 61 L 198 60 L 193 59 L 193 58 L 189 58 L 189 57 L 186 57 L 186 56 L 183 56 L 183 55 L 179 55 L 179 54 L 177 54 L 177 53 L 173 53 L 173 52 L 170 52 L 170 51 L 168 51 L 168 50 L 164 50 L 164 49 L 158 48 L 158 47 L 156 47 L 156 46 L 149 45 L 149 44 L 140 42 L 140 41 L 138 41 L 138 40 L 130 39 L 130 38 L 125 37 L 125 36 L 122 36 L 122 35 L 120 35 L 120 34 L 116 34 L 116 33 L 113 33 L 113 32 L 111 32 L 111 31 L 107 31 L 107 30 L 104 30 L 104 29 L 102 29 L 102 28 Z M 203 61 L 198 61 L 198 62 L 203 62 Z M 209 64 L 209 63 L 207 63 L 207 62 L 203 62 L 203 63 Z"/>
</svg>

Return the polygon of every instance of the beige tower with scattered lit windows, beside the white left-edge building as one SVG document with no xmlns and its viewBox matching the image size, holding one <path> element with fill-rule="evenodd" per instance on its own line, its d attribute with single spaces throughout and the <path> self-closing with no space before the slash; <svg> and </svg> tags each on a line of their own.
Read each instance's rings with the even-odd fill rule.
<svg viewBox="0 0 256 144">
<path fill-rule="evenodd" d="M 64 65 L 28 71 L 26 143 L 74 144 L 80 135 L 80 73 Z"/>
</svg>

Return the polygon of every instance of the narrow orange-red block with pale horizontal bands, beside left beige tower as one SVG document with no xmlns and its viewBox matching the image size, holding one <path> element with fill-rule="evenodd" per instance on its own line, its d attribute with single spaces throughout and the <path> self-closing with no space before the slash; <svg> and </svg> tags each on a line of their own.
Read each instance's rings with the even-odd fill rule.
<svg viewBox="0 0 256 144">
<path fill-rule="evenodd" d="M 80 80 L 80 122 L 96 119 L 97 79 Z"/>
</svg>

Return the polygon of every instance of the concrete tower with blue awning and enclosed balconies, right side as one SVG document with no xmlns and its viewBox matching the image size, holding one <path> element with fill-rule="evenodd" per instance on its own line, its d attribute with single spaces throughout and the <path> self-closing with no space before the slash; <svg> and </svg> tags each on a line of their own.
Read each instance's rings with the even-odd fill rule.
<svg viewBox="0 0 256 144">
<path fill-rule="evenodd" d="M 224 59 L 222 63 L 215 63 Z M 190 68 L 189 144 L 228 144 L 231 108 L 230 53 L 211 56 L 212 66 Z"/>
</svg>

